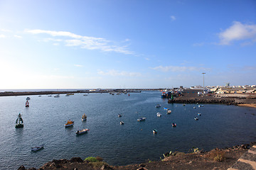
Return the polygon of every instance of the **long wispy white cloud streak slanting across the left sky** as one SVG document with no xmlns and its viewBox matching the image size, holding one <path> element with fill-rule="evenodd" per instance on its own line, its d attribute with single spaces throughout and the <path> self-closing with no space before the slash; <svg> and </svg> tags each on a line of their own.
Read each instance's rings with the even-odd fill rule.
<svg viewBox="0 0 256 170">
<path fill-rule="evenodd" d="M 120 45 L 118 42 L 106 40 L 105 38 L 95 38 L 83 35 L 77 35 L 67 31 L 55 31 L 55 30 L 26 30 L 26 33 L 32 34 L 48 34 L 53 37 L 58 37 L 58 40 L 62 40 L 66 46 L 78 46 L 87 50 L 101 50 L 104 52 L 119 52 L 123 54 L 134 54 L 134 52 L 128 50 L 127 45 Z M 61 39 L 60 37 L 63 37 Z M 53 40 L 48 38 L 47 40 Z M 124 42 L 129 39 L 124 40 Z"/>
</svg>

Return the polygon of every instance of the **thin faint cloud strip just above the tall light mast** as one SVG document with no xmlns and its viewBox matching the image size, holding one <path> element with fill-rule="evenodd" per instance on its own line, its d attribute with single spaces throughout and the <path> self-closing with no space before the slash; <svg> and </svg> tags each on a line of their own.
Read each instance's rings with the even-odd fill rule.
<svg viewBox="0 0 256 170">
<path fill-rule="evenodd" d="M 196 72 L 196 71 L 208 71 L 210 68 L 204 67 L 185 67 L 185 66 L 158 66 L 152 68 L 161 72 Z"/>
</svg>

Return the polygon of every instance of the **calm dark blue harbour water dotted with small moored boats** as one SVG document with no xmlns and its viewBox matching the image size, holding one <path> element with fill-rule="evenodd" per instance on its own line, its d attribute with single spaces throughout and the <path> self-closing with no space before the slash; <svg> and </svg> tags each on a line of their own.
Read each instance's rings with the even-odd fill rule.
<svg viewBox="0 0 256 170">
<path fill-rule="evenodd" d="M 0 97 L 0 169 L 18 169 L 21 164 L 38 168 L 53 159 L 89 156 L 103 157 L 112 165 L 135 164 L 159 159 L 170 150 L 209 150 L 256 141 L 255 108 L 168 104 L 160 95 L 30 96 L 29 108 L 25 108 L 26 96 Z M 161 108 L 156 108 L 156 103 Z M 164 107 L 171 109 L 171 115 L 166 115 Z M 161 118 L 156 117 L 157 112 Z M 24 128 L 14 128 L 18 113 Z M 87 114 L 85 122 L 81 120 L 83 113 Z M 193 119 L 196 116 L 198 121 Z M 146 120 L 138 122 L 142 117 Z M 75 121 L 73 128 L 64 128 L 68 119 Z M 176 128 L 172 128 L 173 122 Z M 89 128 L 90 132 L 76 136 L 78 128 Z M 158 134 L 154 135 L 153 129 Z M 30 147 L 39 144 L 45 148 L 31 152 Z"/>
</svg>

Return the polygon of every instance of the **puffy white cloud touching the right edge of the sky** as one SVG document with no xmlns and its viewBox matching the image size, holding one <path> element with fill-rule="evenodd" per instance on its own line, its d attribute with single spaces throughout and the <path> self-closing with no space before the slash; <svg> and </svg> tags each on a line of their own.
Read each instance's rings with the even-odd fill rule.
<svg viewBox="0 0 256 170">
<path fill-rule="evenodd" d="M 230 45 L 235 40 L 256 40 L 256 25 L 242 24 L 234 21 L 230 28 L 218 33 L 220 38 L 219 45 Z"/>
</svg>

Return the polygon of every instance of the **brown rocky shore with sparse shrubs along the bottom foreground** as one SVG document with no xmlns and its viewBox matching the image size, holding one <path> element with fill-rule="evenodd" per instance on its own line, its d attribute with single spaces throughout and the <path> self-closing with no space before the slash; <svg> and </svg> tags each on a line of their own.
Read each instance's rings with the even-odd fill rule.
<svg viewBox="0 0 256 170">
<path fill-rule="evenodd" d="M 236 145 L 225 149 L 213 149 L 210 152 L 194 150 L 193 153 L 169 152 L 164 154 L 164 159 L 156 162 L 145 162 L 144 164 L 132 164 L 127 166 L 110 166 L 100 160 L 99 162 L 84 161 L 80 157 L 68 159 L 53 159 L 52 162 L 44 164 L 38 170 L 169 170 L 169 169 L 228 169 L 230 166 L 247 152 L 247 149 L 255 145 Z M 18 170 L 27 170 L 24 166 L 20 166 Z M 28 170 L 37 170 L 29 168 Z"/>
</svg>

